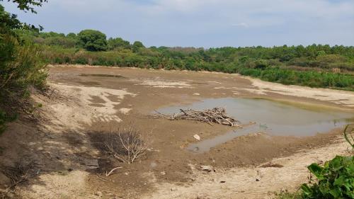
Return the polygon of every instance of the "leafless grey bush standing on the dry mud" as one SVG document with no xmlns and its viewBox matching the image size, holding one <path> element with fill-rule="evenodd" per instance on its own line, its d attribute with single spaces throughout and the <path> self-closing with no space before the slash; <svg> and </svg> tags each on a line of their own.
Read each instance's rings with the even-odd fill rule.
<svg viewBox="0 0 354 199">
<path fill-rule="evenodd" d="M 135 160 L 144 157 L 151 145 L 151 136 L 142 135 L 135 130 L 132 125 L 127 130 L 110 132 L 104 142 L 105 149 L 115 159 L 127 164 L 132 164 Z"/>
</svg>

